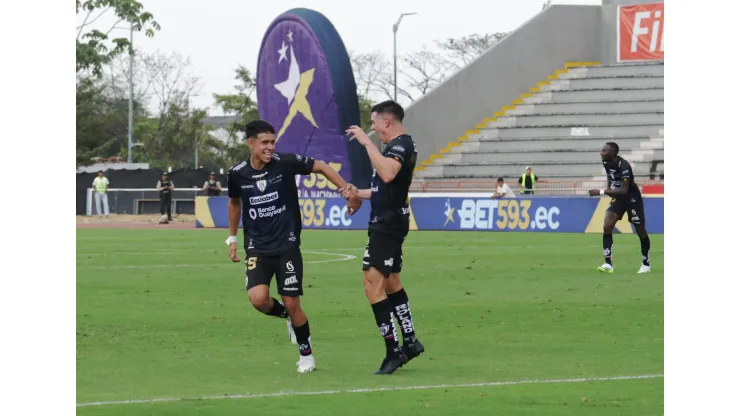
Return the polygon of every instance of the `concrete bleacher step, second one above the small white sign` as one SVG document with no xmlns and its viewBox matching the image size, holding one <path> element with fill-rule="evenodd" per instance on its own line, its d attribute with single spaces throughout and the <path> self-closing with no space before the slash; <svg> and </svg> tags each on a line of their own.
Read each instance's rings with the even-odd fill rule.
<svg viewBox="0 0 740 416">
<path fill-rule="evenodd" d="M 663 113 L 661 101 L 622 101 L 601 103 L 522 104 L 506 111 L 506 116 L 567 114 L 639 114 Z"/>
</svg>

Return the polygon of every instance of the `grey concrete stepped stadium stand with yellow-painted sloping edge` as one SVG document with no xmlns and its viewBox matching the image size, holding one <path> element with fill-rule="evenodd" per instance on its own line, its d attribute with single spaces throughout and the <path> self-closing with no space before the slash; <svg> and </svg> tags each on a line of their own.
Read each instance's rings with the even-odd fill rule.
<svg viewBox="0 0 740 416">
<path fill-rule="evenodd" d="M 416 178 L 513 179 L 532 166 L 546 180 L 600 179 L 598 152 L 607 141 L 619 143 L 636 177 L 655 177 L 664 149 L 663 68 L 655 62 L 557 71 L 477 133 L 433 155 Z"/>
</svg>

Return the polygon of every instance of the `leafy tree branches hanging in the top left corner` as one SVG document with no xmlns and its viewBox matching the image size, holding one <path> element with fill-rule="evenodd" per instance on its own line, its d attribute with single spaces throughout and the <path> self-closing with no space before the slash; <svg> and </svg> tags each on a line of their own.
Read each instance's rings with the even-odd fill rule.
<svg viewBox="0 0 740 416">
<path fill-rule="evenodd" d="M 77 26 L 77 75 L 89 70 L 94 76 L 102 76 L 103 67 L 118 54 L 131 51 L 131 43 L 127 37 L 109 38 L 110 33 L 120 28 L 121 22 L 129 24 L 127 29 L 135 32 L 144 32 L 146 36 L 154 36 L 160 29 L 154 16 L 144 10 L 144 6 L 135 0 L 76 0 L 77 15 L 84 16 L 82 23 Z M 92 28 L 92 25 L 109 11 L 115 13 L 116 22 L 107 30 L 101 31 Z M 112 49 L 111 49 L 112 47 Z"/>
</svg>

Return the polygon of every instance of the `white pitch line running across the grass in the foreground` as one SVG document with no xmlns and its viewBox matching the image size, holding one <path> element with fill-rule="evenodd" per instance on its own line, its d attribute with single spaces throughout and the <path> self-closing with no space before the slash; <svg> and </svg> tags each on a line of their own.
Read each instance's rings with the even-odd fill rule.
<svg viewBox="0 0 740 416">
<path fill-rule="evenodd" d="M 77 403 L 77 407 L 85 406 L 106 406 L 115 404 L 146 404 L 146 403 L 168 403 L 186 400 L 221 400 L 221 399 L 259 399 L 265 397 L 284 397 L 284 396 L 325 396 L 333 394 L 347 393 L 375 393 L 381 391 L 403 391 L 403 390 L 431 390 L 431 389 L 451 389 L 466 387 L 497 387 L 497 386 L 514 386 L 520 384 L 564 384 L 564 383 L 588 383 L 594 381 L 619 381 L 619 380 L 644 380 L 652 378 L 662 378 L 663 374 L 645 374 L 640 376 L 613 376 L 613 377 L 592 377 L 592 378 L 561 378 L 553 380 L 517 380 L 517 381 L 492 381 L 484 383 L 466 383 L 466 384 L 435 384 L 426 386 L 400 386 L 400 387 L 375 387 L 360 389 L 344 390 L 323 390 L 323 391 L 281 391 L 278 393 L 258 393 L 258 394 L 235 394 L 232 396 L 203 396 L 191 398 L 174 398 L 165 397 L 159 399 L 139 399 L 139 400 L 117 400 L 109 402 L 86 402 Z"/>
</svg>

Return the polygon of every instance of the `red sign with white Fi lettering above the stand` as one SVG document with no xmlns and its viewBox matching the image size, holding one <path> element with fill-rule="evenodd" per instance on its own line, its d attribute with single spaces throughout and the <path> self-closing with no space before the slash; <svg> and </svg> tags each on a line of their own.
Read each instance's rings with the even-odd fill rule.
<svg viewBox="0 0 740 416">
<path fill-rule="evenodd" d="M 663 3 L 620 6 L 617 61 L 663 60 Z"/>
</svg>

